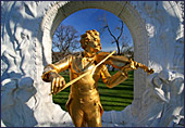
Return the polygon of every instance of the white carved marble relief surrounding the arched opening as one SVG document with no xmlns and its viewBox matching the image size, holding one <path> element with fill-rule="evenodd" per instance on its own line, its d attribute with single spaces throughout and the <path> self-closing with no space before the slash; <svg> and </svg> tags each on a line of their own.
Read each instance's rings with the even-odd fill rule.
<svg viewBox="0 0 185 128">
<path fill-rule="evenodd" d="M 49 33 L 48 28 L 52 26 L 58 11 L 69 16 L 65 14 L 70 14 L 70 3 L 1 1 L 1 119 L 5 126 L 72 126 L 69 114 L 47 95 L 49 88 L 40 89 L 48 85 L 44 85 L 39 78 L 44 64 L 51 60 L 45 60 L 48 55 L 47 42 L 42 40 L 47 41 L 50 37 L 46 38 L 42 34 L 46 36 Z M 101 5 L 96 1 L 79 3 L 76 10 Z M 101 8 L 118 14 L 119 10 L 111 9 L 115 3 L 109 2 Z M 64 5 L 65 13 L 61 10 Z M 136 98 L 138 102 L 121 112 L 106 112 L 103 126 L 184 126 L 184 15 L 178 8 L 173 1 L 132 1 L 124 7 L 125 11 L 132 12 L 130 15 L 139 15 L 144 21 L 147 39 L 136 33 L 133 33 L 133 37 L 148 40 L 147 47 L 144 46 L 146 42 L 136 44 L 136 49 L 148 51 L 148 54 L 145 57 L 136 56 L 147 62 L 156 74 L 150 77 L 141 74 L 147 82 L 140 81 L 139 86 L 144 87 L 135 90 L 136 94 L 141 95 L 140 99 Z M 141 29 L 135 29 L 133 21 L 126 22 L 132 25 L 132 31 Z M 141 54 L 139 51 L 137 53 Z"/>
</svg>

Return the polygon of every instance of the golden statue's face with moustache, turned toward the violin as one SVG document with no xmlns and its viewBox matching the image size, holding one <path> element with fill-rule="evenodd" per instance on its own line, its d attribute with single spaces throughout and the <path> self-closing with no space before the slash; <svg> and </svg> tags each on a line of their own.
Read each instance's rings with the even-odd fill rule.
<svg viewBox="0 0 185 128">
<path fill-rule="evenodd" d="M 101 43 L 99 36 L 92 37 L 92 39 L 87 42 L 86 51 L 89 53 L 96 53 L 101 50 Z"/>
</svg>

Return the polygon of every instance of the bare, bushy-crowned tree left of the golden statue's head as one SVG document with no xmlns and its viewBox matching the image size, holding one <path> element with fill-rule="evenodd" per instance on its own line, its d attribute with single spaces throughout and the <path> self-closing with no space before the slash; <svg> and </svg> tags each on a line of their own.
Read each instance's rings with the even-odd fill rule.
<svg viewBox="0 0 185 128">
<path fill-rule="evenodd" d="M 53 36 L 52 52 L 60 52 L 63 56 L 79 48 L 78 34 L 73 26 L 60 25 Z"/>
</svg>

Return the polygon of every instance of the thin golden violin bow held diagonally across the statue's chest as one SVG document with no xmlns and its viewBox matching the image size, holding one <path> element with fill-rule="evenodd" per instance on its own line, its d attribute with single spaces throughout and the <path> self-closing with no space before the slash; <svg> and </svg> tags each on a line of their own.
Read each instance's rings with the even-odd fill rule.
<svg viewBox="0 0 185 128">
<path fill-rule="evenodd" d="M 89 74 L 94 75 L 96 68 L 97 68 L 99 65 L 101 65 L 106 60 L 108 60 L 113 53 L 115 53 L 115 51 L 111 52 L 108 56 L 106 56 L 103 60 L 101 60 L 101 62 L 99 62 L 92 69 L 90 69 L 90 71 L 82 74 L 81 76 L 78 76 L 78 77 L 76 77 L 75 79 L 73 79 L 73 80 L 71 80 L 70 82 L 67 82 L 64 88 L 62 88 L 62 89 L 60 89 L 60 90 L 58 91 L 58 93 L 59 93 L 60 91 L 64 90 L 65 88 L 67 88 L 69 86 L 71 86 L 72 84 L 76 82 L 76 81 L 79 80 L 81 78 L 83 78 L 83 77 L 85 77 L 85 76 L 87 76 L 87 75 L 89 75 Z M 51 92 L 49 95 L 51 95 L 52 93 L 53 93 L 53 92 Z"/>
</svg>

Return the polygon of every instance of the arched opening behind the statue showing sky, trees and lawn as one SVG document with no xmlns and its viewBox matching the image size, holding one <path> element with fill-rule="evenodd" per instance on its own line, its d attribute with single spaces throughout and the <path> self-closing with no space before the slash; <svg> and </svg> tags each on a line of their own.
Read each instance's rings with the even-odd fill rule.
<svg viewBox="0 0 185 128">
<path fill-rule="evenodd" d="M 106 25 L 108 25 L 110 31 L 104 29 Z M 101 51 L 112 52 L 116 50 L 116 54 L 134 60 L 133 39 L 123 21 L 106 10 L 84 9 L 71 14 L 58 26 L 52 38 L 52 63 L 69 54 L 79 54 L 83 51 L 79 44 L 81 35 L 89 29 L 96 29 L 100 33 Z M 119 47 L 114 38 L 118 39 Z M 107 66 L 111 76 L 118 72 L 118 69 L 111 66 Z M 69 71 L 61 73 L 61 75 L 66 82 L 70 81 Z M 132 104 L 134 99 L 134 72 L 130 72 L 128 75 L 130 78 L 127 80 L 113 89 L 106 87 L 102 80 L 99 79 L 98 89 L 104 111 L 122 111 Z M 65 110 L 69 93 L 70 87 L 53 95 L 53 102 L 59 104 L 62 110 Z"/>
</svg>

